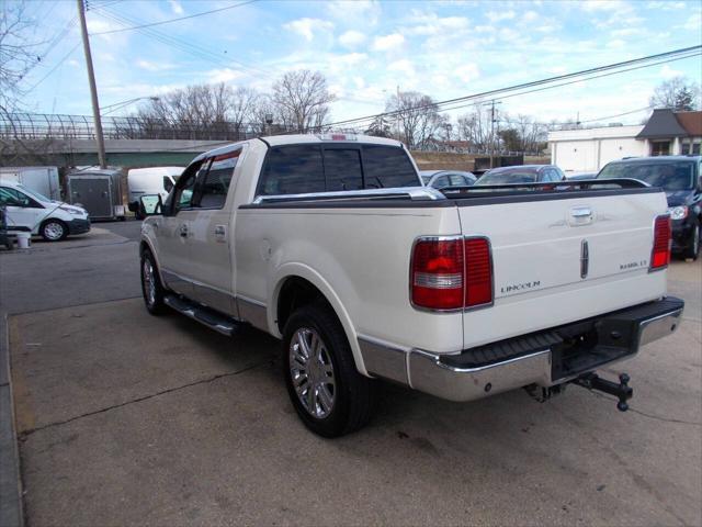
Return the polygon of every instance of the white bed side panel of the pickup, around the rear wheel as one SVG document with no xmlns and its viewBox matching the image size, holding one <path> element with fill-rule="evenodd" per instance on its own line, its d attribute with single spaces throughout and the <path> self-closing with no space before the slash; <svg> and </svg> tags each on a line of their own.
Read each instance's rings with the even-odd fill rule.
<svg viewBox="0 0 702 527">
<path fill-rule="evenodd" d="M 335 307 L 362 372 L 358 336 L 455 351 L 463 344 L 462 314 L 415 310 L 409 265 L 417 236 L 460 233 L 455 206 L 242 209 L 235 234 L 237 293 L 264 303 L 268 330 L 280 336 L 281 284 L 291 276 L 309 280 Z"/>
</svg>

